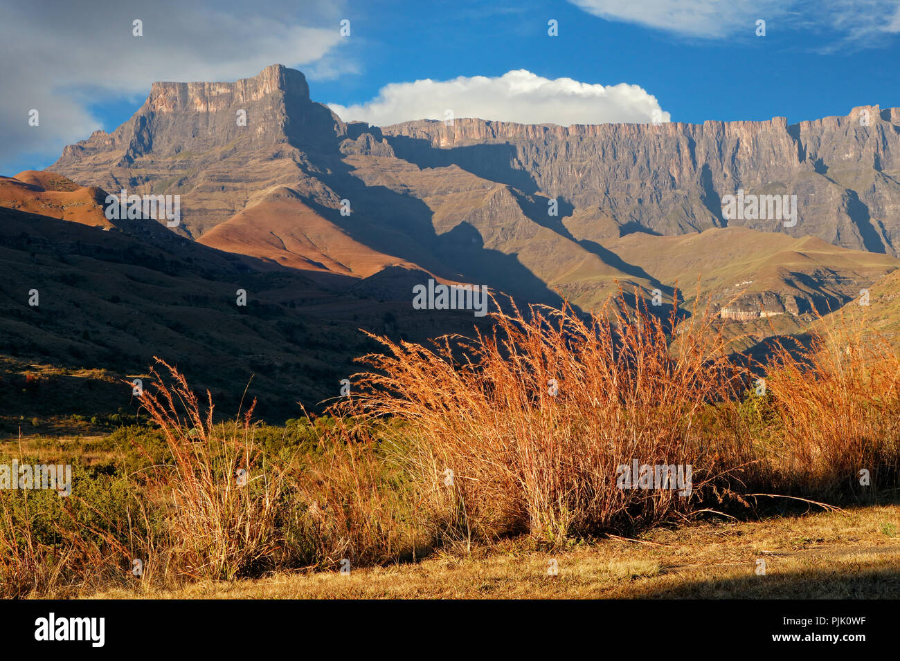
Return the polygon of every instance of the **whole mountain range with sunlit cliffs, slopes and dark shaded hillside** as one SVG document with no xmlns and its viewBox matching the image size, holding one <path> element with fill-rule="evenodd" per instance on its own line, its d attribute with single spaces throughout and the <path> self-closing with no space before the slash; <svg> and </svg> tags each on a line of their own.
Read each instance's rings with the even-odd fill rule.
<svg viewBox="0 0 900 661">
<path fill-rule="evenodd" d="M 122 191 L 178 196 L 178 224 L 110 218 L 107 195 Z M 796 218 L 728 216 L 738 192 L 794 196 Z M 375 127 L 342 121 L 301 72 L 274 65 L 235 83 L 153 84 L 118 129 L 0 178 L 0 207 L 13 310 L 0 352 L 28 336 L 35 359 L 129 373 L 149 349 L 202 372 L 228 355 L 211 382 L 259 373 L 273 392 L 278 370 L 318 353 L 321 379 L 291 382 L 311 402 L 371 346 L 357 328 L 471 329 L 471 314 L 412 310 L 429 279 L 585 312 L 619 288 L 684 308 L 699 296 L 746 335 L 740 348 L 796 332 L 900 265 L 900 109 L 790 125 Z M 53 299 L 66 315 L 22 308 L 33 282 L 66 287 Z M 240 287 L 271 323 L 223 307 Z M 102 345 L 78 330 L 94 326 Z"/>
</svg>

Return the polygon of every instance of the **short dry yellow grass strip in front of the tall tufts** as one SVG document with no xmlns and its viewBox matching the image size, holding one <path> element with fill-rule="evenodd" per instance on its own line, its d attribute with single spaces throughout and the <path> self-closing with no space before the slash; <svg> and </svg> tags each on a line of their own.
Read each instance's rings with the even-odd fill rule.
<svg viewBox="0 0 900 661">
<path fill-rule="evenodd" d="M 891 526 L 894 526 L 893 529 Z M 894 536 L 890 536 L 892 533 Z M 756 574 L 766 560 L 765 576 Z M 555 559 L 558 575 L 548 576 Z M 698 523 L 640 541 L 601 540 L 548 553 L 505 541 L 471 556 L 339 572 L 115 589 L 129 599 L 879 598 L 900 597 L 900 506 Z"/>
</svg>

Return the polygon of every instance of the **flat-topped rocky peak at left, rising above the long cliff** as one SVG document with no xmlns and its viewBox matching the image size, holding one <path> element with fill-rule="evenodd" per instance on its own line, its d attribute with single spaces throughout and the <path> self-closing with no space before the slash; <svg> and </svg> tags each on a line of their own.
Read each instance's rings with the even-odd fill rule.
<svg viewBox="0 0 900 661">
<path fill-rule="evenodd" d="M 337 115 L 311 101 L 306 77 L 275 64 L 233 83 L 154 83 L 129 121 L 69 145 L 49 170 L 79 183 L 103 173 L 111 191 L 184 195 L 179 230 L 199 236 L 273 185 L 305 190 L 298 164 L 338 158 L 346 135 Z"/>
</svg>

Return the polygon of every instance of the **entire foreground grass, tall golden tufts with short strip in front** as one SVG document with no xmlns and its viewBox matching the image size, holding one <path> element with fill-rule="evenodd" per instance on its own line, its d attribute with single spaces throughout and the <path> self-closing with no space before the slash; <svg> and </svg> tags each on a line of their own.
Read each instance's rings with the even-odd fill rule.
<svg viewBox="0 0 900 661">
<path fill-rule="evenodd" d="M 252 406 L 214 424 L 209 393 L 203 409 L 160 362 L 167 382 L 141 396 L 166 451 L 147 452 L 149 468 L 88 479 L 65 502 L 0 494 L 3 594 L 898 594 L 900 522 L 884 505 L 900 484 L 896 354 L 835 331 L 779 351 L 766 393 L 747 397 L 752 374 L 706 311 L 678 325 L 616 307 L 496 322 L 433 348 L 379 338 L 387 353 L 367 357 L 361 394 L 288 454 L 260 444 Z M 690 493 L 620 488 L 631 460 L 692 466 Z M 781 496 L 832 505 L 734 518 Z M 710 515 L 733 523 L 697 523 Z M 130 576 L 132 558 L 144 576 Z M 559 576 L 546 574 L 552 558 Z M 350 576 L 277 574 L 347 563 Z"/>
</svg>

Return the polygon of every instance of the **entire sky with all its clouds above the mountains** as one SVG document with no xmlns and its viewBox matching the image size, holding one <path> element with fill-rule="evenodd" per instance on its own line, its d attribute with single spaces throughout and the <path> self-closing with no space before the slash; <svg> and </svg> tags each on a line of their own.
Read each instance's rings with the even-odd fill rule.
<svg viewBox="0 0 900 661">
<path fill-rule="evenodd" d="M 64 2 L 0 4 L 0 174 L 46 167 L 65 144 L 114 130 L 153 80 L 235 80 L 275 62 L 302 70 L 313 100 L 373 123 L 446 107 L 567 124 L 660 111 L 671 121 L 793 123 L 900 106 L 900 0 L 576 2 L 258 0 L 251 11 L 103 0 L 86 17 Z M 547 33 L 551 19 L 558 36 Z M 455 83 L 415 83 L 428 79 Z M 36 107 L 40 129 L 23 120 Z"/>
</svg>

